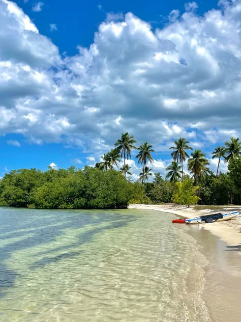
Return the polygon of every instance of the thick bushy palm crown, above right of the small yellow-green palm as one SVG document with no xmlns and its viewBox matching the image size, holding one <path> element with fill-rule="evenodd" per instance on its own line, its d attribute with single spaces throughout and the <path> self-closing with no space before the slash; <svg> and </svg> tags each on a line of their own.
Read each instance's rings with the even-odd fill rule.
<svg viewBox="0 0 241 322">
<path fill-rule="evenodd" d="M 188 160 L 188 170 L 193 174 L 195 184 L 198 183 L 200 177 L 209 172 L 207 165 L 209 165 L 209 162 L 201 150 L 194 150 L 191 153 L 191 157 Z"/>
</svg>

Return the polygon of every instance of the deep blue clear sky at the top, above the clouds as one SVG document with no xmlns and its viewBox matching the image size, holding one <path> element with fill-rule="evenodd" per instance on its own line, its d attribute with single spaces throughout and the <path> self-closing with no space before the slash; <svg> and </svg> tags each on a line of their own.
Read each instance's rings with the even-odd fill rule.
<svg viewBox="0 0 241 322">
<path fill-rule="evenodd" d="M 24 3 L 23 0 L 16 1 L 19 7 L 31 17 L 39 31 L 50 37 L 56 44 L 60 52 L 67 52 L 68 55 L 77 53 L 76 46 L 88 47 L 94 41 L 94 33 L 98 26 L 106 19 L 107 13 L 132 12 L 139 18 L 150 21 L 153 27 L 160 27 L 168 20 L 167 17 L 173 9 L 178 9 L 180 13 L 185 11 L 187 1 L 169 0 L 72 0 L 71 5 L 66 1 L 32 1 Z M 40 12 L 34 12 L 33 6 L 43 3 Z M 197 1 L 198 14 L 217 8 L 217 1 Z M 56 24 L 58 32 L 52 33 L 49 24 Z"/>
</svg>

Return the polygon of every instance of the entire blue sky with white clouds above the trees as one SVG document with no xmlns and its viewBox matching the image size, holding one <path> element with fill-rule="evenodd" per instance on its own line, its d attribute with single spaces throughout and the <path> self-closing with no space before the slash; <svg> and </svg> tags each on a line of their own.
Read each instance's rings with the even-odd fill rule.
<svg viewBox="0 0 241 322">
<path fill-rule="evenodd" d="M 0 177 L 94 166 L 127 131 L 154 172 L 179 137 L 216 172 L 240 137 L 241 0 L 0 0 L 0 31 Z"/>
</svg>

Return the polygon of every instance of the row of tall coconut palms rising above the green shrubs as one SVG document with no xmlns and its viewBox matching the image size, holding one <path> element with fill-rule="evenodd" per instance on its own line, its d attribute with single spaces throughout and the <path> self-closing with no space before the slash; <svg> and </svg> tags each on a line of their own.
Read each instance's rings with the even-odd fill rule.
<svg viewBox="0 0 241 322">
<path fill-rule="evenodd" d="M 148 180 L 149 176 L 152 175 L 152 169 L 146 166 L 149 161 L 152 163 L 153 157 L 152 152 L 155 152 L 153 146 L 148 144 L 147 142 L 142 143 L 139 147 L 136 147 L 134 144 L 137 141 L 133 136 L 130 136 L 128 132 L 122 133 L 122 137 L 116 141 L 114 144 L 115 148 L 111 149 L 109 152 L 102 156 L 102 162 L 96 163 L 95 168 L 100 170 L 113 170 L 114 166 L 118 168 L 118 163 L 120 162 L 120 158 L 124 159 L 124 164 L 120 167 L 120 172 L 124 173 L 125 179 L 126 174 L 132 174 L 130 172 L 131 167 L 126 164 L 126 159 L 131 158 L 131 150 L 139 150 L 139 153 L 136 155 L 138 159 L 138 163 L 143 165 L 143 170 L 140 173 L 140 181 L 143 184 Z M 200 179 L 205 175 L 210 173 L 208 159 L 205 157 L 205 153 L 203 153 L 200 149 L 195 149 L 191 154 L 188 154 L 188 150 L 193 150 L 191 146 L 189 146 L 189 140 L 185 138 L 179 138 L 174 141 L 174 146 L 170 147 L 171 156 L 173 157 L 173 162 L 169 165 L 166 170 L 168 171 L 166 178 L 171 182 L 175 183 L 182 179 L 184 181 L 184 170 L 183 163 L 188 159 L 188 171 L 190 175 L 193 177 L 195 184 L 198 184 Z M 218 176 L 219 166 L 221 159 L 224 159 L 225 162 L 229 163 L 237 156 L 241 155 L 241 142 L 239 138 L 230 138 L 229 141 L 225 142 L 224 146 L 218 146 L 215 148 L 214 152 L 212 152 L 212 157 L 218 158 L 218 167 L 216 176 Z"/>
</svg>

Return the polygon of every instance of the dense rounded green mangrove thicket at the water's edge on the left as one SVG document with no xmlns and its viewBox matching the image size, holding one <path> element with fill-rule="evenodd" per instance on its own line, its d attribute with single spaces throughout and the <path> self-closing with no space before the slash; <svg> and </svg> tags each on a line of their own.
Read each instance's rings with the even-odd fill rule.
<svg viewBox="0 0 241 322">
<path fill-rule="evenodd" d="M 31 208 L 123 208 L 130 200 L 148 203 L 140 183 L 125 180 L 115 170 L 21 169 L 0 182 L 0 205 Z"/>
</svg>

